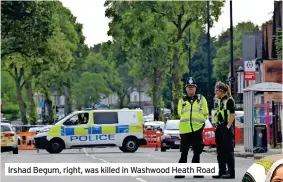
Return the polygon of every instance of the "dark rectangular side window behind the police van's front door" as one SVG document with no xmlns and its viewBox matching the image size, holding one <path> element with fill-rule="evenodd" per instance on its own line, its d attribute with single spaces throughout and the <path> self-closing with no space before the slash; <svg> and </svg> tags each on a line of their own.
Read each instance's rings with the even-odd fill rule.
<svg viewBox="0 0 283 182">
<path fill-rule="evenodd" d="M 117 124 L 117 112 L 98 112 L 93 113 L 94 124 Z"/>
</svg>

